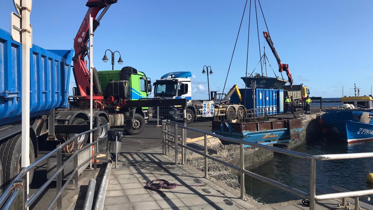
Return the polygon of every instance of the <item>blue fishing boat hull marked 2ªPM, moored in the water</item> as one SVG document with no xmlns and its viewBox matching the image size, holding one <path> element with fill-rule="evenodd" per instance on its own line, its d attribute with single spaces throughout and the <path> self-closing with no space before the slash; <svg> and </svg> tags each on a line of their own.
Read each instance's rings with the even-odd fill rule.
<svg viewBox="0 0 373 210">
<path fill-rule="evenodd" d="M 327 110 L 321 115 L 321 124 L 333 137 L 347 143 L 373 141 L 372 112 L 371 109 Z"/>
</svg>

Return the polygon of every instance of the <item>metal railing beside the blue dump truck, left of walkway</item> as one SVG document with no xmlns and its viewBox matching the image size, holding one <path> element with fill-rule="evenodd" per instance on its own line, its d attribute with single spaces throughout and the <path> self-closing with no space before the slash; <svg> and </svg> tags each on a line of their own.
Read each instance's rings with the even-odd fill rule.
<svg viewBox="0 0 373 210">
<path fill-rule="evenodd" d="M 95 122 L 99 122 L 99 120 L 95 120 Z M 91 161 L 94 159 L 94 170 L 97 169 L 97 155 L 100 154 L 106 146 L 104 146 L 100 151 L 98 151 L 98 142 L 104 140 L 107 138 L 107 134 L 101 138 L 97 138 L 97 130 L 107 127 L 107 130 L 109 130 L 109 123 L 107 125 L 98 126 L 98 123 L 95 123 L 95 128 L 82 132 L 80 134 L 75 134 L 72 138 L 70 138 L 68 141 L 64 142 L 61 145 L 57 145 L 57 148 L 52 150 L 50 153 L 46 154 L 46 156 L 38 159 L 34 163 L 31 163 L 28 167 L 22 167 L 18 175 L 15 176 L 12 182 L 8 185 L 8 187 L 4 190 L 4 192 L 0 195 L 0 207 L 3 207 L 2 209 L 10 209 L 10 207 L 13 206 L 16 210 L 25 210 L 28 209 L 29 206 L 31 206 L 35 200 L 41 195 L 41 193 L 48 187 L 48 185 L 56 178 L 57 181 L 57 191 L 56 196 L 53 198 L 51 203 L 48 206 L 48 210 L 52 209 L 54 204 L 57 202 L 57 209 L 62 210 L 62 192 L 66 188 L 66 186 L 69 184 L 69 182 L 74 178 L 74 189 L 78 189 L 78 169 L 80 169 L 82 166 L 84 166 L 88 161 Z M 78 137 L 85 134 L 93 133 L 93 141 L 92 143 L 85 144 L 81 149 L 78 150 Z M 64 148 L 66 145 L 68 145 L 70 142 L 74 142 L 74 153 L 71 154 L 71 156 L 65 160 L 62 164 L 62 148 Z M 94 153 L 91 153 L 90 150 L 90 157 L 78 165 L 78 154 L 82 151 L 90 148 L 92 145 L 94 145 Z M 34 193 L 29 197 L 27 192 L 27 187 L 25 187 L 25 183 L 27 182 L 28 176 L 27 172 L 34 169 L 38 164 L 44 162 L 47 160 L 47 158 L 51 157 L 53 154 L 56 154 L 57 156 L 57 165 L 56 165 L 56 172 Z M 73 171 L 69 175 L 68 179 L 66 180 L 65 184 L 62 185 L 62 171 L 65 169 L 65 167 L 73 160 Z M 16 199 L 19 199 L 17 202 Z"/>
</svg>

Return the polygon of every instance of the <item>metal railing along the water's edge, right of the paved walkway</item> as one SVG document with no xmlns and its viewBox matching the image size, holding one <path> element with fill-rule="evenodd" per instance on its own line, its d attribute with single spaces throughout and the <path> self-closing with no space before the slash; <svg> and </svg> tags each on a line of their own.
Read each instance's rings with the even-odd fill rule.
<svg viewBox="0 0 373 210">
<path fill-rule="evenodd" d="M 172 131 L 173 129 L 173 131 Z M 179 129 L 181 129 L 181 143 L 179 143 Z M 186 145 L 186 135 L 185 130 L 189 131 L 195 131 L 204 134 L 204 152 L 198 151 L 194 148 L 188 147 Z M 236 166 L 234 164 L 225 162 L 223 160 L 217 159 L 216 157 L 210 156 L 207 154 L 207 135 L 210 135 L 212 137 L 219 138 L 221 140 L 230 141 L 236 144 L 239 144 L 240 148 L 240 166 Z M 173 144 L 173 145 L 172 145 Z M 294 156 L 302 159 L 307 159 L 310 161 L 310 191 L 303 192 L 299 189 L 290 187 L 288 185 L 282 184 L 280 182 L 277 182 L 275 180 L 266 178 L 264 176 L 258 175 L 257 173 L 245 170 L 244 168 L 244 145 L 250 145 L 252 147 L 258 147 L 262 148 L 264 150 L 270 150 L 273 152 L 286 154 L 289 156 Z M 266 182 L 268 184 L 271 184 L 275 187 L 278 187 L 280 189 L 283 189 L 285 191 L 291 192 L 292 194 L 298 195 L 299 197 L 306 198 L 310 200 L 310 210 L 315 210 L 315 201 L 320 200 L 329 200 L 329 199 L 335 199 L 335 198 L 346 198 L 346 197 L 359 197 L 363 195 L 369 195 L 373 194 L 373 189 L 366 189 L 366 190 L 360 190 L 360 191 L 346 191 L 346 192 L 337 192 L 337 193 L 330 193 L 330 194 L 321 194 L 316 195 L 316 162 L 317 161 L 323 161 L 323 160 L 341 160 L 341 159 L 357 159 L 357 158 L 367 158 L 367 157 L 373 157 L 373 153 L 348 153 L 348 154 L 322 154 L 322 155 L 311 155 L 311 154 L 305 154 L 300 153 L 297 151 L 291 151 L 286 150 L 278 147 L 271 147 L 263 144 L 258 144 L 255 142 L 247 142 L 235 138 L 229 138 L 229 137 L 223 137 L 217 134 L 214 134 L 212 132 L 208 131 L 202 131 L 195 128 L 189 128 L 186 127 L 182 123 L 178 122 L 172 122 L 169 120 L 163 120 L 162 121 L 162 151 L 163 154 L 168 154 L 169 148 L 175 149 L 175 164 L 178 164 L 178 147 L 181 147 L 181 162 L 182 164 L 185 164 L 186 162 L 186 149 L 193 151 L 197 154 L 200 154 L 201 156 L 204 156 L 204 163 L 205 163 L 205 178 L 208 178 L 207 175 L 207 159 L 214 160 L 218 163 L 224 164 L 225 166 L 231 167 L 232 169 L 235 169 L 239 171 L 239 175 L 241 177 L 241 199 L 245 199 L 245 176 L 248 175 L 253 178 L 256 178 L 260 181 Z"/>
</svg>

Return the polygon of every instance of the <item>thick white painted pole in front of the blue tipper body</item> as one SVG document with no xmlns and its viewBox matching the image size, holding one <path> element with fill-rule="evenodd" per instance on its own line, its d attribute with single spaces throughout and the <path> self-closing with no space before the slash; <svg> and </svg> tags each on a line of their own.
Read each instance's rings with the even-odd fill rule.
<svg viewBox="0 0 373 210">
<path fill-rule="evenodd" d="M 31 28 L 30 12 L 31 0 L 22 0 L 22 144 L 21 144 L 21 167 L 27 167 L 30 164 L 30 46 L 31 46 Z M 29 192 L 29 173 L 27 173 L 27 197 Z"/>
</svg>

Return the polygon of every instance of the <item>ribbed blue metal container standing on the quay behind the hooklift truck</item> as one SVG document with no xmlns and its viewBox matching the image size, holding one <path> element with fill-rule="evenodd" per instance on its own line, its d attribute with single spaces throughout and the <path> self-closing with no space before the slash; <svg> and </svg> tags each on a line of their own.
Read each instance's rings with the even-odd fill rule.
<svg viewBox="0 0 373 210">
<path fill-rule="evenodd" d="M 254 109 L 253 105 L 253 89 L 252 88 L 245 88 L 239 89 L 242 96 L 242 101 L 239 100 L 236 94 L 231 96 L 231 103 L 234 104 L 243 104 L 246 109 Z M 256 88 L 255 89 L 255 113 L 256 116 L 263 116 L 265 115 L 265 111 L 267 110 L 267 115 L 275 115 L 277 113 L 283 112 L 283 98 L 279 97 L 282 94 L 283 90 L 273 90 L 273 89 L 262 89 Z M 246 97 L 246 100 L 245 100 Z"/>
</svg>

